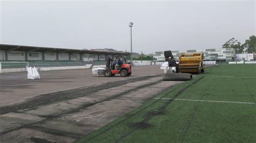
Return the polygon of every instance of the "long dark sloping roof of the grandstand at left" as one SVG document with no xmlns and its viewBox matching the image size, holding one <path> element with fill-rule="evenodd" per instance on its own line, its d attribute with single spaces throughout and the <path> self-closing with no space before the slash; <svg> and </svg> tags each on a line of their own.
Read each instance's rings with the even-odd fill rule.
<svg viewBox="0 0 256 143">
<path fill-rule="evenodd" d="M 107 52 L 107 51 L 93 51 L 88 49 L 68 49 L 68 48 L 52 48 L 52 47 L 35 47 L 22 45 L 5 45 L 0 44 L 0 50 L 4 51 L 25 51 L 25 52 L 56 52 L 56 53 L 84 53 L 84 54 L 124 54 L 130 55 L 129 52 Z"/>
</svg>

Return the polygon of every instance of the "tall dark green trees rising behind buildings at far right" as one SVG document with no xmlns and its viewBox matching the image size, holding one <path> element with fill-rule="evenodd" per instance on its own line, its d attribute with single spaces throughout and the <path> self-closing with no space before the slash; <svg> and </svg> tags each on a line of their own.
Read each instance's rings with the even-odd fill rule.
<svg viewBox="0 0 256 143">
<path fill-rule="evenodd" d="M 256 49 L 256 37 L 255 35 L 250 36 L 249 39 L 245 40 L 244 44 L 241 44 L 235 38 L 231 38 L 226 41 L 226 43 L 222 46 L 223 48 L 233 48 L 235 53 L 255 53 Z"/>
</svg>

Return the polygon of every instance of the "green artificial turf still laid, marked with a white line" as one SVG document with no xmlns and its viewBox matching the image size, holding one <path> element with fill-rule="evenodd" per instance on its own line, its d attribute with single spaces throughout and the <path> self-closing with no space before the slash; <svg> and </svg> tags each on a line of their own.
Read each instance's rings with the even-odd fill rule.
<svg viewBox="0 0 256 143">
<path fill-rule="evenodd" d="M 256 65 L 208 67 L 78 142 L 256 142 Z M 173 100 L 172 100 L 173 99 Z"/>
</svg>

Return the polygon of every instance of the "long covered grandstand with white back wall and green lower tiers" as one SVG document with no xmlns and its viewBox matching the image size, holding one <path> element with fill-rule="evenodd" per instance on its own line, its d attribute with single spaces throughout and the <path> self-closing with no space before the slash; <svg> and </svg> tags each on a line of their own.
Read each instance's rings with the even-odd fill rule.
<svg viewBox="0 0 256 143">
<path fill-rule="evenodd" d="M 57 69 L 64 69 L 63 67 L 105 65 L 107 57 L 111 58 L 113 55 L 120 54 L 130 55 L 129 52 L 119 51 L 0 44 L 0 73 L 7 72 L 7 69 L 11 69 L 13 72 L 25 71 L 25 66 L 28 65 L 41 68 L 41 70 L 46 67 L 62 67 Z M 18 70 L 14 70 L 15 68 L 18 68 Z"/>
</svg>

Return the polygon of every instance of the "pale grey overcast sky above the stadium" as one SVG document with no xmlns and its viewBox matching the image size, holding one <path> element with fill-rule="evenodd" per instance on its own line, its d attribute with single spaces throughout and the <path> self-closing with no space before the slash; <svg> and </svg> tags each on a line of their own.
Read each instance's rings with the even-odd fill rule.
<svg viewBox="0 0 256 143">
<path fill-rule="evenodd" d="M 0 0 L 1 1 L 1 0 Z M 1 1 L 0 43 L 151 53 L 255 35 L 255 1 Z"/>
</svg>

